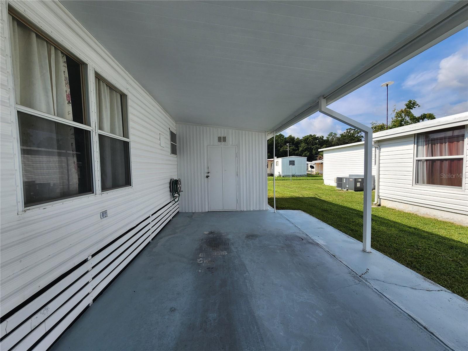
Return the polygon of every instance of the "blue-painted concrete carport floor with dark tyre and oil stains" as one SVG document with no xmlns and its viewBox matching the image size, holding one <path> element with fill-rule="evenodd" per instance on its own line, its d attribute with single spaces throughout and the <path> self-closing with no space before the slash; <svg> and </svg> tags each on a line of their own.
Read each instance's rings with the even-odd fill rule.
<svg viewBox="0 0 468 351">
<path fill-rule="evenodd" d="M 272 211 L 178 213 L 52 347 L 444 349 Z"/>
</svg>

